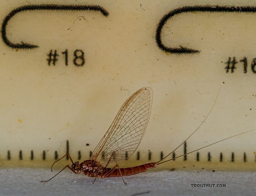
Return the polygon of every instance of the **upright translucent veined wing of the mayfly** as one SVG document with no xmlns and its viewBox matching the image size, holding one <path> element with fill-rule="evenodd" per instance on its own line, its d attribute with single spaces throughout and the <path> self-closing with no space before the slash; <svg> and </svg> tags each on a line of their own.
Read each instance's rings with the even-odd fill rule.
<svg viewBox="0 0 256 196">
<path fill-rule="evenodd" d="M 147 128 L 153 91 L 144 87 L 122 105 L 113 123 L 92 153 L 91 159 L 102 166 L 130 157 L 139 146 Z M 111 159 L 110 159 L 111 157 Z"/>
</svg>

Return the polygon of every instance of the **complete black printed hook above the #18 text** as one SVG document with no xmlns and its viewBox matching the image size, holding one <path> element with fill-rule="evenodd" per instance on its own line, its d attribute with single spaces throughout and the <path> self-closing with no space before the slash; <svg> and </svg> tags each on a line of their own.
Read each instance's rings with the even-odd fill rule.
<svg viewBox="0 0 256 196">
<path fill-rule="evenodd" d="M 6 45 L 8 45 L 11 48 L 15 49 L 33 49 L 39 47 L 38 45 L 32 45 L 28 43 L 24 43 L 21 41 L 20 44 L 12 43 L 10 40 L 8 40 L 6 36 L 6 27 L 9 22 L 9 20 L 16 15 L 17 13 L 23 12 L 23 11 L 33 11 L 33 10 L 69 10 L 69 11 L 99 11 L 104 16 L 108 16 L 109 13 L 104 8 L 98 6 L 98 5 L 57 5 L 57 4 L 40 4 L 40 5 L 25 5 L 18 8 L 13 9 L 8 15 L 4 18 L 2 28 L 1 28 L 1 34 L 2 39 Z"/>
</svg>

